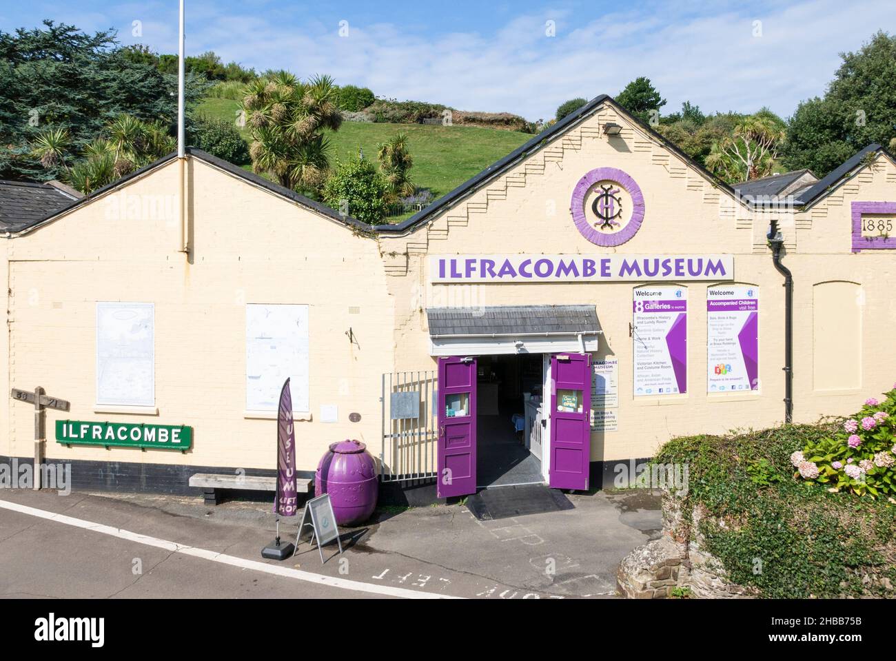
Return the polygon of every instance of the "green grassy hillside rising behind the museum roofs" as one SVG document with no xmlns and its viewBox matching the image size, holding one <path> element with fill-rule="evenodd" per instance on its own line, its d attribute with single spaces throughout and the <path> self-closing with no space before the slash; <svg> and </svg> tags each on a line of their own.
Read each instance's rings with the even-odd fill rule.
<svg viewBox="0 0 896 661">
<path fill-rule="evenodd" d="M 203 99 L 198 109 L 207 116 L 232 121 L 237 117 L 239 103 L 230 99 Z M 339 131 L 329 135 L 332 160 L 348 159 L 358 154 L 359 148 L 364 150 L 366 159 L 376 159 L 377 146 L 400 131 L 408 135 L 410 154 L 414 157 L 411 178 L 416 185 L 431 188 L 436 197 L 448 193 L 532 137 L 529 133 L 476 126 L 343 122 Z M 243 129 L 242 133 L 248 140 L 249 131 Z"/>
</svg>

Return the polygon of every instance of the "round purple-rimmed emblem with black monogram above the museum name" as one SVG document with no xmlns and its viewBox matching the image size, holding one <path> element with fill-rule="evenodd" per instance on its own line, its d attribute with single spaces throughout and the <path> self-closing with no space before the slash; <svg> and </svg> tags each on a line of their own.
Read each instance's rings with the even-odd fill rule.
<svg viewBox="0 0 896 661">
<path fill-rule="evenodd" d="M 644 219 L 644 196 L 616 167 L 597 167 L 573 189 L 575 227 L 592 244 L 611 247 L 632 238 Z"/>
</svg>

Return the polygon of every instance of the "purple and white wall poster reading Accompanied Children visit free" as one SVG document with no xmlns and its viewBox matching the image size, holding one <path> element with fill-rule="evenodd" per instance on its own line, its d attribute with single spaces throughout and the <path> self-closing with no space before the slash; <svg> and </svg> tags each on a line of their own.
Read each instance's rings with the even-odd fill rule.
<svg viewBox="0 0 896 661">
<path fill-rule="evenodd" d="M 759 390 L 759 288 L 706 290 L 706 391 Z"/>
</svg>

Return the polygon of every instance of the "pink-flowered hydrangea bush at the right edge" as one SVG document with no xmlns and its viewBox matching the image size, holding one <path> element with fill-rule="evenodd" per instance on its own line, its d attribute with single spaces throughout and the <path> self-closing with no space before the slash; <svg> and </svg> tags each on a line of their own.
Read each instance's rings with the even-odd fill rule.
<svg viewBox="0 0 896 661">
<path fill-rule="evenodd" d="M 883 401 L 867 399 L 836 434 L 807 443 L 790 462 L 796 476 L 872 498 L 896 495 L 896 386 Z"/>
</svg>

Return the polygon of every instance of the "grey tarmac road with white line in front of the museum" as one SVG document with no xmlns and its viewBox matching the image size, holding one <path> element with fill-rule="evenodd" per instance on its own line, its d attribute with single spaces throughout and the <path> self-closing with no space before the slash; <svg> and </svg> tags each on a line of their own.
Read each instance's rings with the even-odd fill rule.
<svg viewBox="0 0 896 661">
<path fill-rule="evenodd" d="M 571 496 L 572 511 L 478 521 L 462 505 L 380 511 L 263 560 L 268 503 L 0 491 L 0 597 L 612 597 L 618 562 L 659 528 L 646 494 Z M 295 535 L 295 523 L 283 537 Z"/>
</svg>

